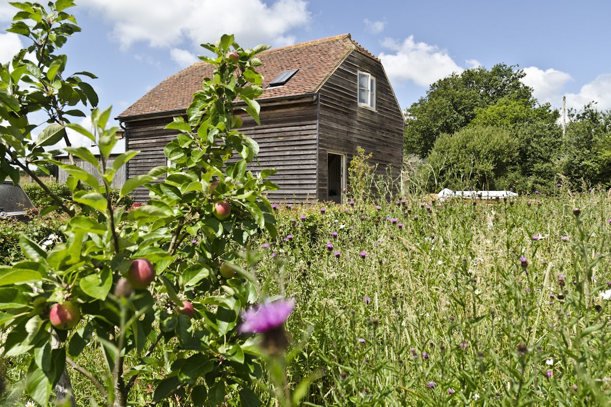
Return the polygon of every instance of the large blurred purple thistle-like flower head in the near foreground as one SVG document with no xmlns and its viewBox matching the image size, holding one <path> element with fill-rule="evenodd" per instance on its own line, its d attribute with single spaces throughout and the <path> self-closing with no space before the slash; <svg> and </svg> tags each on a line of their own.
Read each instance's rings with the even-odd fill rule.
<svg viewBox="0 0 611 407">
<path fill-rule="evenodd" d="M 282 326 L 293 312 L 295 300 L 282 298 L 276 301 L 265 300 L 263 303 L 242 312 L 240 333 L 264 333 Z"/>
</svg>

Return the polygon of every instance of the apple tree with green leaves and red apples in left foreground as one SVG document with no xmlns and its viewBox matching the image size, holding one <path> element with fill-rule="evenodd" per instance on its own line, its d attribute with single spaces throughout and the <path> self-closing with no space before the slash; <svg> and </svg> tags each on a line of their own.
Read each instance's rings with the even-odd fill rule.
<svg viewBox="0 0 611 407">
<path fill-rule="evenodd" d="M 247 171 L 258 146 L 239 131 L 236 110 L 258 121 L 256 55 L 267 47 L 243 49 L 232 35 L 203 45 L 211 56 L 200 58 L 214 74 L 184 117 L 168 124 L 177 131 L 164 149 L 171 164 L 120 189 L 118 199 L 142 185 L 150 190 L 147 204 L 128 211 L 109 190 L 138 152 L 110 162 L 117 141 L 110 109 L 92 110 L 93 131 L 71 122 L 98 102 L 85 81 L 95 76 L 68 75 L 67 56 L 57 53 L 80 30 L 65 12 L 73 1 L 12 4 L 19 11 L 9 31 L 31 45 L 0 67 L 0 176 L 16 183 L 23 170 L 44 188 L 35 168 L 55 164 L 69 174 L 73 193 L 66 200 L 48 191 L 41 211 L 69 215 L 64 243 L 45 250 L 22 237 L 27 259 L 0 266 L 0 328 L 9 331 L 4 356 L 29 358 L 26 391 L 40 405 L 53 394 L 74 405 L 67 366 L 112 406 L 177 396 L 196 406 L 258 405 L 252 383 L 262 375 L 261 354 L 238 325 L 241 312 L 258 301 L 249 272 L 258 254 L 249 241 L 262 229 L 275 232 L 263 193 L 276 185 L 266 180 L 272 171 Z M 30 123 L 35 112 L 46 113 L 45 124 Z M 72 146 L 72 132 L 92 140 L 100 156 Z M 55 160 L 48 151 L 62 140 L 64 151 L 97 174 Z M 87 352 L 98 352 L 98 370 L 78 365 Z M 154 391 L 137 392 L 137 381 Z"/>
</svg>

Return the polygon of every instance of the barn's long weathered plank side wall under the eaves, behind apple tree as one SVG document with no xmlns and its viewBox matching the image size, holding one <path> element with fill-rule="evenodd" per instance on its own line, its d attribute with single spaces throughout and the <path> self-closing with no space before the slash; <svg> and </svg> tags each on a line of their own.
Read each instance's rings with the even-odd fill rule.
<svg viewBox="0 0 611 407">
<path fill-rule="evenodd" d="M 285 101 L 265 106 L 262 103 L 261 125 L 244 117 L 240 129 L 254 139 L 259 147 L 258 163 L 247 167 L 251 171 L 276 168 L 268 179 L 280 186 L 268 194 L 273 202 L 297 203 L 316 199 L 316 103 L 312 98 Z M 163 148 L 176 137 L 174 130 L 166 130 L 170 118 L 128 121 L 126 149 L 140 151 L 128 163 L 128 177 L 146 174 L 158 165 L 166 165 Z M 134 190 L 134 201 L 146 202 L 148 190 Z"/>
</svg>

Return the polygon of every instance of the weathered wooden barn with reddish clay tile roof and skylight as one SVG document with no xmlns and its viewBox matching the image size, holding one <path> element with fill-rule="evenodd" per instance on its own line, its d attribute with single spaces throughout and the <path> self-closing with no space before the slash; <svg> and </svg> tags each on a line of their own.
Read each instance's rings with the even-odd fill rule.
<svg viewBox="0 0 611 407">
<path fill-rule="evenodd" d="M 398 180 L 404 118 L 376 56 L 343 34 L 269 49 L 258 57 L 265 89 L 257 99 L 261 124 L 244 117 L 241 131 L 260 146 L 258 162 L 249 170 L 277 170 L 269 179 L 280 189 L 270 192 L 269 200 L 341 203 L 357 146 L 372 154 L 370 162 L 378 164 L 380 173 L 390 168 Z M 163 148 L 176 132 L 165 127 L 185 115 L 192 94 L 211 72 L 208 63 L 195 63 L 117 117 L 126 149 L 141 152 L 128 163 L 128 178 L 166 165 Z M 147 199 L 146 189 L 135 191 L 135 201 Z"/>
</svg>

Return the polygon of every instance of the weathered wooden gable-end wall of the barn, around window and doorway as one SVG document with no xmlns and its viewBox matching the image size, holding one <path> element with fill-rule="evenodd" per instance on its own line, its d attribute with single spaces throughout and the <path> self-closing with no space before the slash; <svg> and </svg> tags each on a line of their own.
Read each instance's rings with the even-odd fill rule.
<svg viewBox="0 0 611 407">
<path fill-rule="evenodd" d="M 359 107 L 357 73 L 363 71 L 376 79 L 376 110 Z M 395 101 L 382 65 L 353 51 L 323 85 L 319 93 L 320 175 L 318 199 L 327 200 L 327 152 L 346 154 L 346 171 L 357 146 L 371 153 L 378 163 L 378 174 L 385 175 L 389 165 L 398 180 L 403 161 L 403 113 Z M 325 164 L 325 165 L 323 165 Z M 346 179 L 348 177 L 346 176 Z M 395 189 L 398 190 L 398 182 Z M 396 192 L 396 191 L 395 191 Z"/>
</svg>

